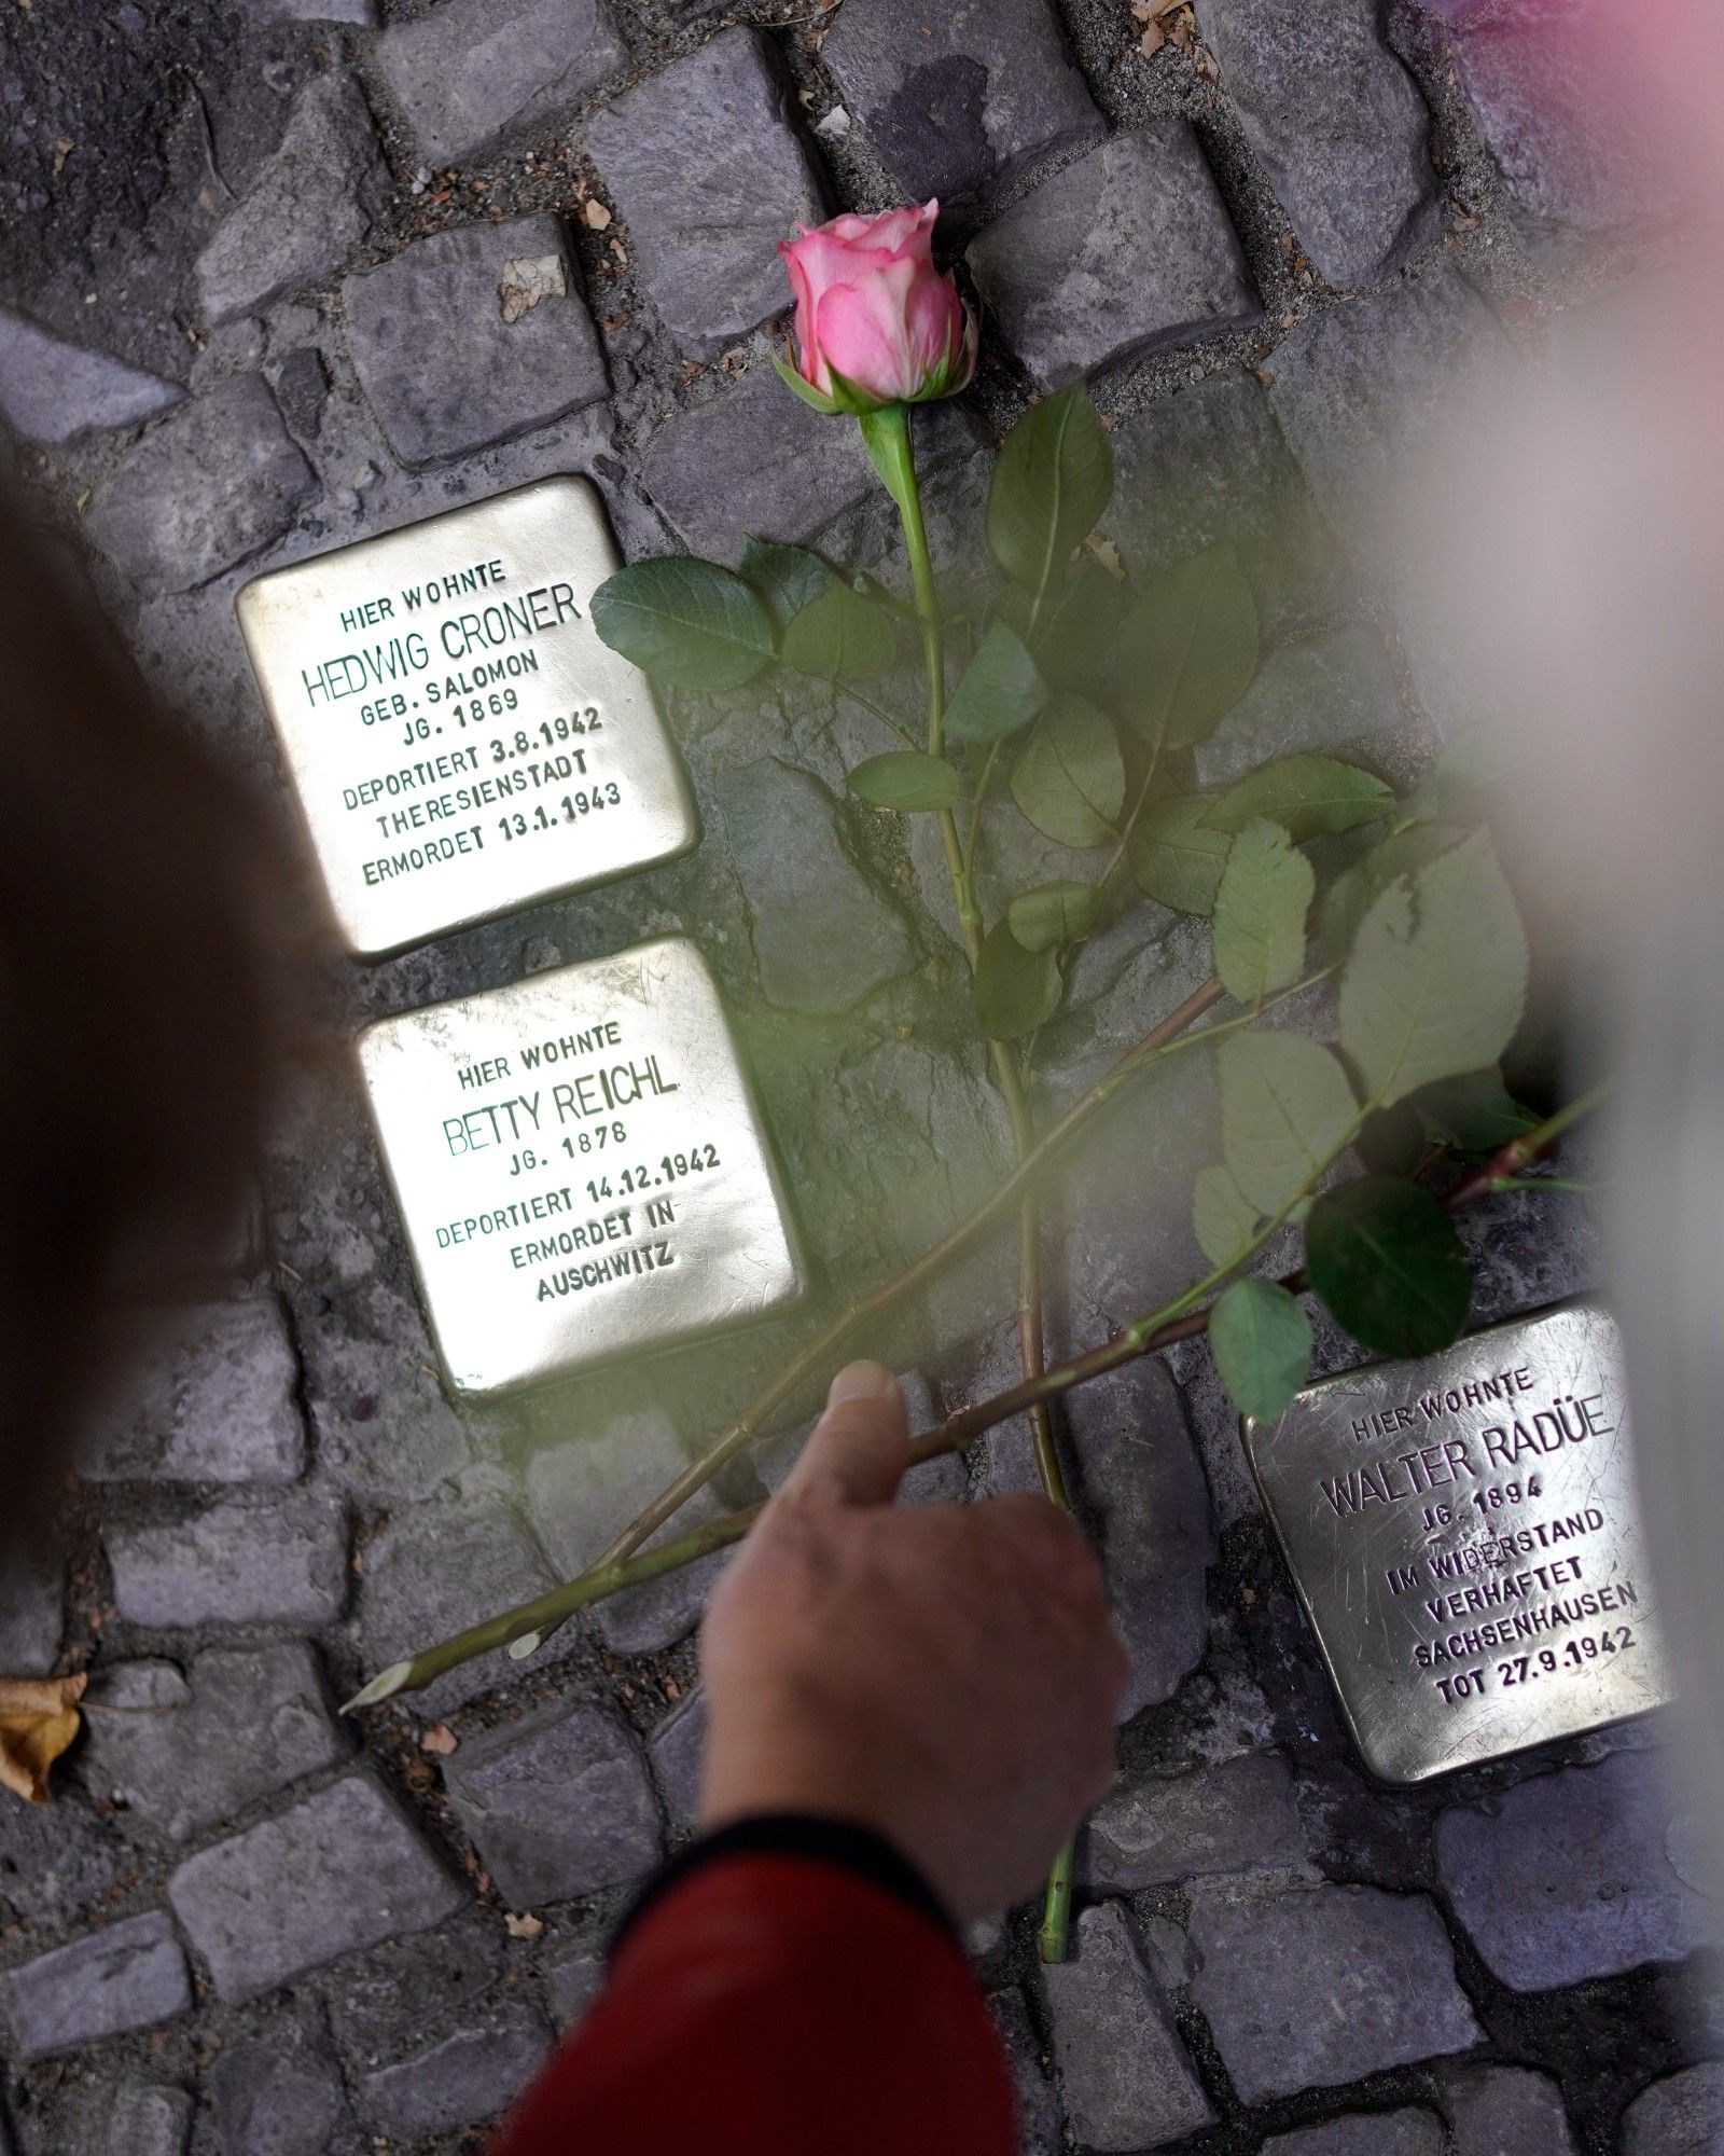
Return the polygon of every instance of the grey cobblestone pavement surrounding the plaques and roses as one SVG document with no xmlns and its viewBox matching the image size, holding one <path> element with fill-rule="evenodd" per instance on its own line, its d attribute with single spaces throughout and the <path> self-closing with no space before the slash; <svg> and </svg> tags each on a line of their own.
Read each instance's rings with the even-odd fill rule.
<svg viewBox="0 0 1724 2156">
<path fill-rule="evenodd" d="M 940 530 L 974 530 L 978 442 L 1093 375 L 1121 545 L 1256 550 L 1274 649 L 1202 778 L 1338 742 L 1403 772 L 1457 714 L 1368 573 L 1373 481 L 1435 386 L 1526 364 L 1552 298 L 1664 205 L 1541 138 L 1489 28 L 1450 45 L 1401 0 L 1386 26 L 1377 0 L 1198 17 L 1220 82 L 1172 47 L 1144 60 L 1125 0 L 9 9 L 17 464 L 153 679 L 278 798 L 233 619 L 261 567 L 565 470 L 629 554 L 752 528 L 890 556 L 853 429 L 771 377 L 771 241 L 940 190 L 987 306 L 976 390 L 924 420 Z M 543 298 L 511 323 L 522 261 Z M 670 716 L 707 821 L 692 856 L 340 968 L 330 998 L 358 1024 L 687 927 L 817 1276 L 853 1287 L 1002 1162 L 940 865 L 845 800 L 886 742 L 810 683 Z M 1149 903 L 1097 936 L 1047 1104 L 1196 968 Z M 1190 1276 L 1205 1115 L 1174 1065 L 1073 1175 L 1060 1343 Z M 1487 1315 L 1588 1276 L 1586 1227 L 1521 1205 L 1470 1229 Z M 1006 1261 L 955 1272 L 886 1343 L 927 1412 L 1004 1378 Z M 353 1084 L 302 1080 L 233 1281 L 93 1445 L 65 1563 L 0 1608 L 0 1667 L 91 1671 L 60 1800 L 0 1805 L 0 2145 L 455 2150 L 509 2104 L 590 1999 L 629 1882 L 687 1830 L 703 1583 L 360 1727 L 332 1699 L 578 1565 L 819 1315 L 457 1412 Z M 1334 1337 L 1323 1356 L 1351 1360 Z M 1041 1973 L 1021 1910 L 972 1940 L 1030 2147 L 1724 2147 L 1724 2070 L 1696 2063 L 1724 1990 L 1649 1731 L 1373 1789 L 1202 1352 L 1073 1399 L 1067 1445 L 1136 1680 L 1078 1958 Z M 1026 1473 L 1006 1429 L 929 1490 Z M 743 1466 L 724 1494 L 756 1490 Z"/>
</svg>

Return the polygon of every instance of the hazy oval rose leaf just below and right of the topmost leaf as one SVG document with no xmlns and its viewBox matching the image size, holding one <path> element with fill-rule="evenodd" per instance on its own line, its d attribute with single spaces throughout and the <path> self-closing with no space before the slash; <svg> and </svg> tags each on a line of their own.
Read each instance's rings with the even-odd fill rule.
<svg viewBox="0 0 1724 2156">
<path fill-rule="evenodd" d="M 1252 686 L 1259 621 L 1231 545 L 1211 545 L 1159 576 L 1125 617 L 1114 651 L 1131 731 L 1164 748 L 1211 733 Z"/>
</svg>

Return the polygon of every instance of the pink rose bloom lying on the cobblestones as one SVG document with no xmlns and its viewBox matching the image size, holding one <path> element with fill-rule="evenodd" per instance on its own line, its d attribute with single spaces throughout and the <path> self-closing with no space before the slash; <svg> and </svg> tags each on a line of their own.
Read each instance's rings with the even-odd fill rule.
<svg viewBox="0 0 1724 2156">
<path fill-rule="evenodd" d="M 976 371 L 976 326 L 933 267 L 940 203 L 802 226 L 778 252 L 795 289 L 797 373 L 823 412 L 955 397 Z"/>
</svg>

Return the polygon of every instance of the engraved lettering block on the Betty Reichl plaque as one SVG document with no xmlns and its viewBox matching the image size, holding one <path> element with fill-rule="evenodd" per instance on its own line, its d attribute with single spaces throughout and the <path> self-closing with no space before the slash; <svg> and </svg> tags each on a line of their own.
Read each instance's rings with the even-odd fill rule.
<svg viewBox="0 0 1724 2156">
<path fill-rule="evenodd" d="M 565 1076 L 550 1078 L 558 1069 Z M 442 1119 L 453 1160 L 500 1149 L 509 1153 L 511 1177 L 569 1169 L 569 1179 L 440 1222 L 437 1248 L 506 1238 L 509 1263 L 532 1274 L 539 1302 L 677 1263 L 677 1199 L 644 1192 L 715 1169 L 718 1147 L 692 1145 L 657 1162 L 599 1166 L 606 1153 L 621 1160 L 616 1149 L 627 1145 L 623 1110 L 681 1091 L 657 1050 L 629 1056 L 623 1024 L 612 1018 L 532 1041 L 517 1056 L 468 1063 L 459 1082 L 517 1089 Z M 612 1203 L 616 1199 L 631 1203 Z M 558 1266 L 560 1259 L 571 1263 Z"/>
</svg>

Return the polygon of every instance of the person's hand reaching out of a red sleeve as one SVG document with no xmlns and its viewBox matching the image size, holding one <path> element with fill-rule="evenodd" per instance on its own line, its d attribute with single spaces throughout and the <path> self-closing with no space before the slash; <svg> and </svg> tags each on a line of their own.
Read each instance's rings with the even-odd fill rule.
<svg viewBox="0 0 1724 2156">
<path fill-rule="evenodd" d="M 1039 1496 L 894 1509 L 903 1395 L 851 1363 L 700 1632 L 700 1824 L 856 1820 L 961 1923 L 1026 1895 L 1114 1770 L 1129 1664 Z"/>
</svg>

